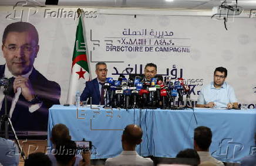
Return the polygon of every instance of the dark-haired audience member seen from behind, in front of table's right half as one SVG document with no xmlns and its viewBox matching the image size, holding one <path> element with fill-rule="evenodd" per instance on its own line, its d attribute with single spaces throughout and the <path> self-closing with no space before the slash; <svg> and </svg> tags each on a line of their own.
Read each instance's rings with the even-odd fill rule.
<svg viewBox="0 0 256 166">
<path fill-rule="evenodd" d="M 200 156 L 201 162 L 211 161 L 216 165 L 224 166 L 223 162 L 211 157 L 211 154 L 209 153 L 212 136 L 213 134 L 211 133 L 211 129 L 208 127 L 199 126 L 194 129 L 194 149 Z"/>
</svg>

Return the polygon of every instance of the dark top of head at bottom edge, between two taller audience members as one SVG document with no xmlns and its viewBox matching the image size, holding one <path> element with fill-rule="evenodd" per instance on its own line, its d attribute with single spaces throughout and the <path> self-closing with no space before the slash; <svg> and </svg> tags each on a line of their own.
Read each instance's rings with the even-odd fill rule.
<svg viewBox="0 0 256 166">
<path fill-rule="evenodd" d="M 187 159 L 194 159 L 196 163 L 193 163 L 193 165 L 200 164 L 200 157 L 196 150 L 192 148 L 187 148 L 185 150 L 181 150 L 177 155 L 177 158 L 187 158 Z"/>
</svg>

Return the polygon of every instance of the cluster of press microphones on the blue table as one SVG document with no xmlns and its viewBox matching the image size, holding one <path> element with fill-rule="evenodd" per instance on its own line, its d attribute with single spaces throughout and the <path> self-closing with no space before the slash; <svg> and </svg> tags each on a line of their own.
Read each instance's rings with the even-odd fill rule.
<svg viewBox="0 0 256 166">
<path fill-rule="evenodd" d="M 123 109 L 183 109 L 183 95 L 190 99 L 190 87 L 183 83 L 183 78 L 176 80 L 164 77 L 164 80 L 140 77 L 129 78 L 120 75 L 118 80 L 107 78 L 104 84 L 105 107 Z"/>
</svg>

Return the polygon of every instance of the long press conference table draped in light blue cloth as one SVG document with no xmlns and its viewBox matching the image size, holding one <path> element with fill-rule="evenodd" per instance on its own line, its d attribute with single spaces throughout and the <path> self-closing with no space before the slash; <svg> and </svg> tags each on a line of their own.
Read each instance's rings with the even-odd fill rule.
<svg viewBox="0 0 256 166">
<path fill-rule="evenodd" d="M 121 136 L 127 124 L 138 124 L 143 142 L 136 150 L 143 156 L 175 157 L 178 151 L 193 148 L 193 131 L 207 126 L 213 132 L 210 153 L 224 162 L 239 162 L 256 153 L 256 109 L 98 109 L 53 105 L 49 109 L 48 146 L 55 124 L 68 126 L 72 140 L 92 141 L 92 158 L 109 158 L 122 151 Z"/>
</svg>

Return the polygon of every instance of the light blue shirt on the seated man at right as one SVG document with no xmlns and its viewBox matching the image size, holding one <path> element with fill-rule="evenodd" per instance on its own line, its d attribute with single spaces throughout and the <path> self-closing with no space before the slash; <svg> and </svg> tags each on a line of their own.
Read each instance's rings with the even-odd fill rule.
<svg viewBox="0 0 256 166">
<path fill-rule="evenodd" d="M 208 102 L 214 102 L 214 108 L 227 108 L 227 104 L 237 102 L 237 98 L 234 89 L 226 82 L 218 89 L 211 82 L 201 89 L 197 104 L 204 105 Z"/>
</svg>

